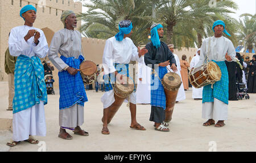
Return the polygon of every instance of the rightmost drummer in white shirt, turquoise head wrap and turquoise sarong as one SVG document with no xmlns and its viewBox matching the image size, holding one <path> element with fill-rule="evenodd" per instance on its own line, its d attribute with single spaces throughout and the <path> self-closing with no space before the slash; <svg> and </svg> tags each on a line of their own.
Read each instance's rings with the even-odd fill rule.
<svg viewBox="0 0 256 163">
<path fill-rule="evenodd" d="M 200 61 L 195 66 L 203 65 L 207 55 L 209 61 L 217 63 L 222 75 L 220 81 L 213 85 L 206 85 L 203 89 L 202 118 L 208 119 L 203 126 L 215 125 L 214 120 L 216 120 L 218 122 L 215 127 L 223 127 L 225 125 L 224 121 L 228 119 L 229 76 L 225 61 L 236 61 L 236 50 L 232 41 L 222 36 L 223 32 L 230 36 L 225 27 L 225 23 L 222 20 L 214 22 L 212 27 L 214 36 L 203 41 Z"/>
</svg>

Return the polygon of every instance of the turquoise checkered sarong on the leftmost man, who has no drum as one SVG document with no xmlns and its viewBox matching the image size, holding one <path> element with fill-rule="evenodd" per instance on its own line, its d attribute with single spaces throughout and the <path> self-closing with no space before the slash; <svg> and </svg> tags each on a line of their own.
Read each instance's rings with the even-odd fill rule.
<svg viewBox="0 0 256 163">
<path fill-rule="evenodd" d="M 13 114 L 40 104 L 40 101 L 43 101 L 44 105 L 47 104 L 44 68 L 38 57 L 20 55 L 17 58 L 14 87 Z"/>
</svg>

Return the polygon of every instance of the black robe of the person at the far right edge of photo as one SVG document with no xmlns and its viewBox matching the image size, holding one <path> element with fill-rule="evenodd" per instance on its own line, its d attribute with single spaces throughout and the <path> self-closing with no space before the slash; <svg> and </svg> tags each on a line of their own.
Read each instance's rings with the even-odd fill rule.
<svg viewBox="0 0 256 163">
<path fill-rule="evenodd" d="M 251 61 L 253 65 L 247 65 L 250 70 L 248 74 L 247 86 L 248 86 L 248 93 L 256 93 L 256 61 Z M 254 72 L 254 75 L 252 74 Z"/>
</svg>

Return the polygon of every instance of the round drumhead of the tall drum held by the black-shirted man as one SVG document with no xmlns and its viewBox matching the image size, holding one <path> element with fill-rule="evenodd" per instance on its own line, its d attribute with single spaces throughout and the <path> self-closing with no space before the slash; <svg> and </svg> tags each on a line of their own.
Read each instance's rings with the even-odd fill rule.
<svg viewBox="0 0 256 163">
<path fill-rule="evenodd" d="M 178 74 L 174 72 L 169 72 L 164 75 L 163 83 L 169 88 L 179 88 L 181 85 L 181 78 Z"/>
</svg>

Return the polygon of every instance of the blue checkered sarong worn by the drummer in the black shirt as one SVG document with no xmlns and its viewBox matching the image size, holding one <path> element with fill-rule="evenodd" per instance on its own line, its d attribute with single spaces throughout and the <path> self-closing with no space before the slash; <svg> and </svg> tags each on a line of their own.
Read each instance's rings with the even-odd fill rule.
<svg viewBox="0 0 256 163">
<path fill-rule="evenodd" d="M 161 80 L 167 74 L 166 67 L 155 67 L 155 71 Z M 166 93 L 164 93 L 164 87 L 158 76 L 154 72 L 151 75 L 151 106 L 166 110 Z"/>
</svg>

